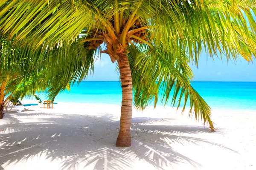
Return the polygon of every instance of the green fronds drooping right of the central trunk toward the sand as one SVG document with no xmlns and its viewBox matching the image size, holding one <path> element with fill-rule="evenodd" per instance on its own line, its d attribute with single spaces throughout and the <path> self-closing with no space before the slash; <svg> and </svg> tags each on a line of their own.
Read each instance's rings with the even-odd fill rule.
<svg viewBox="0 0 256 170">
<path fill-rule="evenodd" d="M 194 114 L 195 120 L 203 119 L 204 124 L 209 123 L 211 130 L 214 130 L 209 105 L 191 86 L 193 75 L 187 62 L 189 57 L 185 53 L 177 57 L 163 54 L 161 50 L 141 52 L 136 46 L 129 50 L 135 107 L 143 110 L 152 100 L 156 106 L 160 94 L 164 105 L 171 104 L 178 108 L 183 100 L 184 112 L 189 100 L 189 116 Z M 169 102 L 171 96 L 172 100 Z"/>
</svg>

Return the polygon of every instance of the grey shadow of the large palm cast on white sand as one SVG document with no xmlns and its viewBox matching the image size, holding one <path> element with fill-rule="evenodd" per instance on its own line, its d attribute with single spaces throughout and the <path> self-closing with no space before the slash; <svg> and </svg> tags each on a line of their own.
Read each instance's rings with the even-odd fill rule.
<svg viewBox="0 0 256 170">
<path fill-rule="evenodd" d="M 8 164 L 34 157 L 49 162 L 58 160 L 61 170 L 87 167 L 132 169 L 137 160 L 156 169 L 183 163 L 201 167 L 198 162 L 173 150 L 173 142 L 207 143 L 236 152 L 221 144 L 185 135 L 208 133 L 209 130 L 202 126 L 151 125 L 170 121 L 167 119 L 134 118 L 133 145 L 128 148 L 115 147 L 119 121 L 113 121 L 111 116 L 9 113 L 4 119 L 7 123 L 0 127 L 0 170 Z"/>
</svg>

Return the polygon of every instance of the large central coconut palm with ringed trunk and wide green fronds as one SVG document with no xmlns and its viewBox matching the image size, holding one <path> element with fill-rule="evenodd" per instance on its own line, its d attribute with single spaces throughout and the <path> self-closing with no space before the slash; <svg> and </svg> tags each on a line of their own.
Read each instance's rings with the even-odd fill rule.
<svg viewBox="0 0 256 170">
<path fill-rule="evenodd" d="M 189 115 L 214 131 L 209 106 L 190 85 L 189 62 L 198 65 L 202 51 L 252 61 L 255 13 L 254 0 L 3 0 L 0 35 L 51 53 L 52 67 L 63 70 L 52 82 L 52 98 L 93 70 L 96 53 L 108 54 L 117 63 L 122 85 L 116 146 L 128 147 L 133 91 L 134 105 L 141 109 L 151 101 L 156 105 L 158 94 L 164 105 L 179 107 L 183 100 L 183 111 L 189 100 Z M 76 63 L 68 57 L 70 47 L 73 57 L 85 57 L 84 69 L 66 66 Z M 55 56 L 67 57 L 66 63 Z"/>
</svg>

